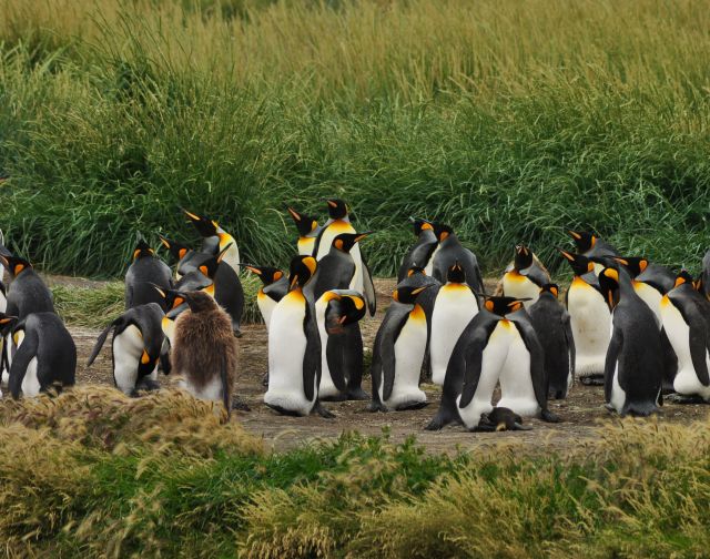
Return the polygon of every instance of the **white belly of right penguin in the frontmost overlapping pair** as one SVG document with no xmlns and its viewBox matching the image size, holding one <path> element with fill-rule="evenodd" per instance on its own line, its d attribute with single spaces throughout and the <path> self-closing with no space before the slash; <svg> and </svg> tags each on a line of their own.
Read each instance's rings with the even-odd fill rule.
<svg viewBox="0 0 710 559">
<path fill-rule="evenodd" d="M 510 323 L 510 346 L 500 372 L 500 402 L 498 407 L 513 409 L 524 417 L 536 416 L 540 405 L 535 396 L 530 375 L 530 353 L 515 324 Z"/>
</svg>

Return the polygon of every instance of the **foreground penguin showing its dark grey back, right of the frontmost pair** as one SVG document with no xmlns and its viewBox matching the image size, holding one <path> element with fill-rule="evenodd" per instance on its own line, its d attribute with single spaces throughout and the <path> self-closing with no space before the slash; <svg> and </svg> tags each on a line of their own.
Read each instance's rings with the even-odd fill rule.
<svg viewBox="0 0 710 559">
<path fill-rule="evenodd" d="M 658 410 L 663 372 L 653 312 L 617 270 L 604 268 L 599 284 L 612 321 L 605 365 L 607 407 L 621 416 L 648 416 Z"/>
</svg>

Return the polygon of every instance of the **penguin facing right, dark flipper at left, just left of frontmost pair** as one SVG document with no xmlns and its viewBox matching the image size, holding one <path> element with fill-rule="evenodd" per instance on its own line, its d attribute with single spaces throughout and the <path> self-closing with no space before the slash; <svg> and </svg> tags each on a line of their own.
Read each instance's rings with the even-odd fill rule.
<svg viewBox="0 0 710 559">
<path fill-rule="evenodd" d="M 427 404 L 419 389 L 427 321 L 417 297 L 433 285 L 427 276 L 416 274 L 399 282 L 392 294 L 373 347 L 371 411 L 418 409 Z"/>
</svg>

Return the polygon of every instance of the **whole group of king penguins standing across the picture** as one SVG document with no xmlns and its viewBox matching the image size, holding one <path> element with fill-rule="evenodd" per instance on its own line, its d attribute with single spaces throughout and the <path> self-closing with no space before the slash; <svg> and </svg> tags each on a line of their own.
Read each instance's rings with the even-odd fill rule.
<svg viewBox="0 0 710 559">
<path fill-rule="evenodd" d="M 328 218 L 293 207 L 297 255 L 287 273 L 241 262 L 236 241 L 215 221 L 183 211 L 203 237 L 199 250 L 160 241 L 174 273 L 140 241 L 125 274 L 125 312 L 99 336 L 88 365 L 112 334 L 113 379 L 129 396 L 178 374 L 196 398 L 221 403 L 227 417 L 239 372 L 244 292 L 241 273 L 262 286 L 268 333 L 263 400 L 278 414 L 334 417 L 323 402 L 369 400 L 369 411 L 428 404 L 420 378 L 442 386 L 427 429 L 527 429 L 524 418 L 560 420 L 549 399 L 566 398 L 575 377 L 604 385 L 606 407 L 648 416 L 663 395 L 710 403 L 710 251 L 702 273 L 672 273 L 625 256 L 592 233 L 569 231 L 559 250 L 571 283 L 560 291 L 530 247 L 515 247 L 494 294 L 476 255 L 454 230 L 412 220 L 416 242 L 403 258 L 373 346 L 371 393 L 362 386 L 359 322 L 376 312 L 375 289 L 357 232 L 342 200 Z M 32 265 L 0 244 L 3 382 L 13 398 L 74 384 L 77 349 Z M 1 276 L 0 276 L 1 277 Z M 498 396 L 499 394 L 499 396 Z M 496 404 L 494 405 L 494 402 Z"/>
</svg>

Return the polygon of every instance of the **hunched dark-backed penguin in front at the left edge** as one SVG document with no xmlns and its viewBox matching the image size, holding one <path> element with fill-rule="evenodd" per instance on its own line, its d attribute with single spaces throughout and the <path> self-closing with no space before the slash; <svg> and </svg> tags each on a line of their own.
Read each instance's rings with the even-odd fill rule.
<svg viewBox="0 0 710 559">
<path fill-rule="evenodd" d="M 54 313 L 32 313 L 18 321 L 0 314 L 13 341 L 8 386 L 14 399 L 33 397 L 50 388 L 74 385 L 77 346 L 64 323 Z"/>
</svg>

